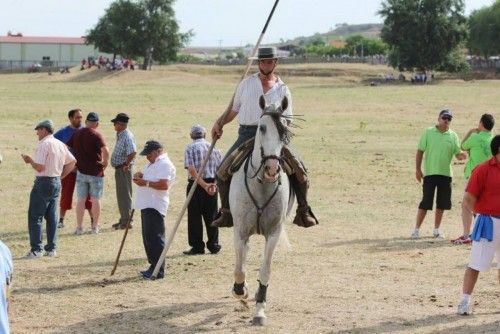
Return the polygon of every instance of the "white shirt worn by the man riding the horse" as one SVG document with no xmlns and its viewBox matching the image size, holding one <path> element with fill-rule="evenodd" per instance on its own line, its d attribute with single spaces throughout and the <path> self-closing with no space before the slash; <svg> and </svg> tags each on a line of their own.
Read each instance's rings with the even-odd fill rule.
<svg viewBox="0 0 500 334">
<path fill-rule="evenodd" d="M 288 108 L 283 115 L 292 115 L 292 95 L 288 87 L 278 78 L 276 84 L 264 94 L 259 74 L 249 76 L 243 80 L 236 90 L 232 110 L 238 113 L 238 122 L 240 125 L 257 125 L 262 109 L 259 106 L 259 98 L 264 95 L 266 104 L 281 103 L 283 97 L 288 98 Z"/>
</svg>

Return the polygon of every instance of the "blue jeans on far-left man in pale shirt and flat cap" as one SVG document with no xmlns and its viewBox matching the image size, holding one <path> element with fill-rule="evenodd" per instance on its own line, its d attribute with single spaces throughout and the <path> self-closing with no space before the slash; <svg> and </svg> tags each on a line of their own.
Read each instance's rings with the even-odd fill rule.
<svg viewBox="0 0 500 334">
<path fill-rule="evenodd" d="M 57 206 L 60 193 L 61 179 L 59 177 L 39 176 L 35 178 L 28 209 L 28 231 L 32 252 L 56 249 L 57 221 L 59 220 Z M 47 223 L 47 245 L 43 248 L 42 223 L 44 218 Z"/>
</svg>

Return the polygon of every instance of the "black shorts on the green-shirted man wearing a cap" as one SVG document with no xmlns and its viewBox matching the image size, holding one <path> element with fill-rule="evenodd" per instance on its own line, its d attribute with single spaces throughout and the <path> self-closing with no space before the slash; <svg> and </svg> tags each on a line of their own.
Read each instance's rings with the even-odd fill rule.
<svg viewBox="0 0 500 334">
<path fill-rule="evenodd" d="M 418 208 L 432 210 L 434 191 L 437 188 L 436 207 L 441 210 L 451 209 L 451 177 L 443 175 L 424 176 L 423 197 Z"/>
</svg>

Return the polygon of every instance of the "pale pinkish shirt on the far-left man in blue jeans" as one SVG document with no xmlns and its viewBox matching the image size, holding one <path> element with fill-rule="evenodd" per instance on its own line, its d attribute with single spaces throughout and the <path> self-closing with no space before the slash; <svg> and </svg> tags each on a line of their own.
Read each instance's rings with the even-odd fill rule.
<svg viewBox="0 0 500 334">
<path fill-rule="evenodd" d="M 38 142 L 33 161 L 44 165 L 44 170 L 35 172 L 36 176 L 61 176 L 64 165 L 76 161 L 68 147 L 53 135 L 48 135 Z"/>
</svg>

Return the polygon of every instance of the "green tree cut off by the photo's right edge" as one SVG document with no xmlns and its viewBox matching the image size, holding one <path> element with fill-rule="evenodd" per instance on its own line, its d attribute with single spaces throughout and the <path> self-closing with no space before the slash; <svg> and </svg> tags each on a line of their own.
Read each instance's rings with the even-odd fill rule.
<svg viewBox="0 0 500 334">
<path fill-rule="evenodd" d="M 500 0 L 472 12 L 468 46 L 473 53 L 485 58 L 500 54 Z"/>
</svg>

